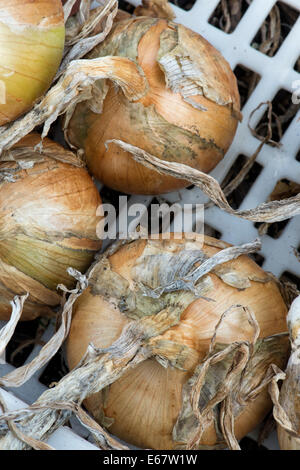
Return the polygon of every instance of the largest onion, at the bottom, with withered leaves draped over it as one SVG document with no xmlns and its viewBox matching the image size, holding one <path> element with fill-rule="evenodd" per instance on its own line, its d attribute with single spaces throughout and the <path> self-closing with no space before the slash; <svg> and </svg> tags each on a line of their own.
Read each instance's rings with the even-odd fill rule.
<svg viewBox="0 0 300 470">
<path fill-rule="evenodd" d="M 281 335 L 287 308 L 277 283 L 245 255 L 214 265 L 194 286 L 188 282 L 194 265 L 204 269 L 226 247 L 210 237 L 204 245 L 187 238 L 133 241 L 99 261 L 76 300 L 70 368 L 89 344 L 101 352 L 130 322 L 149 319 L 146 359 L 136 366 L 133 359 L 124 362 L 122 376 L 118 372 L 113 383 L 104 376 L 111 385 L 85 400 L 93 417 L 125 442 L 153 449 L 235 448 L 270 411 L 267 371 L 270 364 L 284 365 L 288 354 L 287 335 Z M 155 318 L 163 315 L 171 327 L 155 336 Z M 114 361 L 122 364 L 118 347 L 108 350 L 112 371 Z"/>
</svg>

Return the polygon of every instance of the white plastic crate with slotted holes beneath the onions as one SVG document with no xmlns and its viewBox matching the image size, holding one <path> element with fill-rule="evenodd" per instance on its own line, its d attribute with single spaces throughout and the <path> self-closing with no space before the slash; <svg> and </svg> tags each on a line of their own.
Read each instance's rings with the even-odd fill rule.
<svg viewBox="0 0 300 470">
<path fill-rule="evenodd" d="M 251 42 L 272 7 L 277 3 L 276 0 L 253 0 L 231 34 L 226 34 L 209 24 L 209 19 L 219 1 L 196 0 L 189 11 L 176 6 L 173 6 L 173 9 L 176 13 L 175 21 L 202 34 L 220 50 L 233 70 L 240 65 L 261 76 L 258 85 L 242 109 L 243 122 L 238 127 L 226 157 L 212 172 L 212 175 L 222 182 L 237 157 L 239 155 L 250 157 L 260 143 L 248 128 L 251 112 L 261 102 L 272 101 L 281 89 L 290 93 L 295 91 L 293 84 L 300 80 L 300 74 L 294 70 L 295 62 L 300 56 L 300 16 L 275 56 L 268 57 L 254 49 Z M 140 2 L 130 0 L 130 3 L 138 5 Z M 300 0 L 281 0 L 281 3 L 300 12 Z M 260 121 L 265 109 L 265 107 L 261 107 L 255 113 L 251 120 L 253 127 Z M 300 161 L 296 158 L 300 149 L 300 112 L 294 117 L 284 133 L 281 144 L 280 148 L 269 145 L 263 147 L 257 158 L 262 171 L 249 189 L 239 209 L 253 208 L 265 202 L 276 183 L 283 178 L 300 183 Z M 164 195 L 164 199 L 170 203 L 178 202 L 180 204 L 207 202 L 207 198 L 198 188 L 184 189 Z M 129 206 L 137 202 L 150 205 L 151 201 L 152 197 L 149 196 L 132 196 L 129 199 Z M 217 207 L 211 207 L 205 211 L 205 223 L 218 231 L 223 240 L 233 244 L 249 242 L 258 236 L 257 228 L 253 222 L 229 215 Z M 261 240 L 264 269 L 271 271 L 278 277 L 284 272 L 300 277 L 300 263 L 294 253 L 294 249 L 300 247 L 300 216 L 294 217 L 288 222 L 279 238 L 274 239 L 269 235 L 264 235 Z M 52 327 L 48 328 L 43 339 L 49 338 L 52 331 Z M 38 350 L 39 347 L 35 347 L 26 362 L 29 362 Z M 1 375 L 7 373 L 11 368 L 12 366 L 9 364 L 1 365 Z M 5 393 L 5 400 L 10 409 L 24 406 L 24 402 L 32 403 L 44 391 L 45 386 L 39 382 L 42 372 L 43 370 L 39 371 L 23 387 L 14 389 L 13 394 L 11 391 Z M 23 402 L 20 403 L 19 399 L 22 399 Z M 87 432 L 77 421 L 74 420 L 71 424 L 73 425 L 72 431 L 67 427 L 60 428 L 51 436 L 49 444 L 56 449 L 96 449 L 87 440 Z M 257 432 L 253 432 L 251 436 L 256 439 Z M 275 433 L 269 436 L 264 442 L 264 446 L 269 449 L 278 449 Z"/>
</svg>

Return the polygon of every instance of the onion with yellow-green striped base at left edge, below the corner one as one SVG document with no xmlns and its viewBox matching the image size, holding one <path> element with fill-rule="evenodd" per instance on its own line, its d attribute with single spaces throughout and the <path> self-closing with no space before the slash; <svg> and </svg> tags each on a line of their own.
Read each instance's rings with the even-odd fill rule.
<svg viewBox="0 0 300 470">
<path fill-rule="evenodd" d="M 67 273 L 85 272 L 101 247 L 96 236 L 101 200 L 84 168 L 64 163 L 69 153 L 37 134 L 11 151 L 19 161 L 0 163 L 0 319 L 11 314 L 14 295 L 29 292 L 22 320 L 53 314 L 57 285 L 73 288 Z M 55 159 L 47 155 L 53 155 Z"/>
</svg>

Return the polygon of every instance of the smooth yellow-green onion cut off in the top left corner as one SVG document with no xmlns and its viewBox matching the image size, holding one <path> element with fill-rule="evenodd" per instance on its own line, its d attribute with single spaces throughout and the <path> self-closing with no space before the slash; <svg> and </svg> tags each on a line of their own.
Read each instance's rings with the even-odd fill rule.
<svg viewBox="0 0 300 470">
<path fill-rule="evenodd" d="M 0 125 L 51 85 L 65 42 L 61 0 L 0 0 Z"/>
</svg>

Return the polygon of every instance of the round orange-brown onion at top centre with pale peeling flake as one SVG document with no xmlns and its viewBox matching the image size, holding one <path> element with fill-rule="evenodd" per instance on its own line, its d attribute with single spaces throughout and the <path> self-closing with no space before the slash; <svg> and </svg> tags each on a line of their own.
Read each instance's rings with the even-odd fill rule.
<svg viewBox="0 0 300 470">
<path fill-rule="evenodd" d="M 129 101 L 115 84 L 99 81 L 94 99 L 77 105 L 65 124 L 66 139 L 84 149 L 91 173 L 126 193 L 161 194 L 189 184 L 136 163 L 115 143 L 107 146 L 111 139 L 210 172 L 240 119 L 236 79 L 222 55 L 182 25 L 140 17 L 117 22 L 87 57 L 103 56 L 138 65 L 127 76 L 135 98 Z M 121 60 L 119 67 L 121 76 Z M 143 81 L 138 89 L 141 80 L 133 74 L 146 77 L 146 86 Z"/>
</svg>

